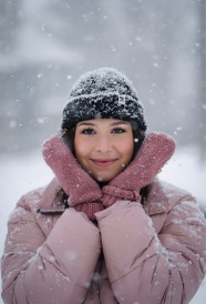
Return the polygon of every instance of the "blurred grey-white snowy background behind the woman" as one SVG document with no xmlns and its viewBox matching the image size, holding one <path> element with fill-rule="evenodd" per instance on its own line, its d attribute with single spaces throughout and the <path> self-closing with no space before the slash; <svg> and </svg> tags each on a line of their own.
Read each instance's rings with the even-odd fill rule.
<svg viewBox="0 0 206 304">
<path fill-rule="evenodd" d="M 52 174 L 41 144 L 58 132 L 73 82 L 113 67 L 134 83 L 148 132 L 177 151 L 161 176 L 206 207 L 206 1 L 0 0 L 0 254 L 19 197 Z M 203 283 L 193 304 L 205 304 Z"/>
</svg>

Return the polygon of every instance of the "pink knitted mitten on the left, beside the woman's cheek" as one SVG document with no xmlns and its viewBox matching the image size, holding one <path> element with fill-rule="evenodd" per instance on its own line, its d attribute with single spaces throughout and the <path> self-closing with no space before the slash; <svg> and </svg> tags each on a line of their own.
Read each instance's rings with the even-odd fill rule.
<svg viewBox="0 0 206 304">
<path fill-rule="evenodd" d="M 69 195 L 69 205 L 94 220 L 94 213 L 104 209 L 101 203 L 102 191 L 78 163 L 63 139 L 49 139 L 43 144 L 42 154 Z"/>
</svg>

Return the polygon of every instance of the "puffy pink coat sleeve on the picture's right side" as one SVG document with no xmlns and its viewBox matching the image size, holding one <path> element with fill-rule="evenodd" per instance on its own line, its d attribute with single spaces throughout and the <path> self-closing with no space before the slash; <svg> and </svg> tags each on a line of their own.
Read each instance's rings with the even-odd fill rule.
<svg viewBox="0 0 206 304">
<path fill-rule="evenodd" d="M 196 203 L 187 197 L 158 216 L 164 225 L 157 234 L 140 203 L 119 201 L 96 213 L 120 303 L 189 303 L 204 278 L 206 222 Z"/>
</svg>

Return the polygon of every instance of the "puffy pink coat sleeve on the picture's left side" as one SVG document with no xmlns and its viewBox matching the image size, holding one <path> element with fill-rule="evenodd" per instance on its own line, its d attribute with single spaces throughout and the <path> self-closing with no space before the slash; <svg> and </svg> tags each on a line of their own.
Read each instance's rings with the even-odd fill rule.
<svg viewBox="0 0 206 304">
<path fill-rule="evenodd" d="M 66 210 L 45 239 L 31 211 L 17 207 L 1 260 L 4 303 L 83 303 L 100 250 L 100 231 L 82 213 Z"/>
</svg>

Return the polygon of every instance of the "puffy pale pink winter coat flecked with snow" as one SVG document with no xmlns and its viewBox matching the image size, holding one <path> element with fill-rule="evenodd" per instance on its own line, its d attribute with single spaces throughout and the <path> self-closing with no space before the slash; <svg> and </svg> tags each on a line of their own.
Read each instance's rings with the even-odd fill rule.
<svg viewBox="0 0 206 304">
<path fill-rule="evenodd" d="M 97 225 L 56 199 L 54 179 L 9 219 L 2 297 L 18 304 L 183 304 L 200 285 L 206 222 L 194 197 L 156 180 L 147 201 L 119 201 Z"/>
</svg>

